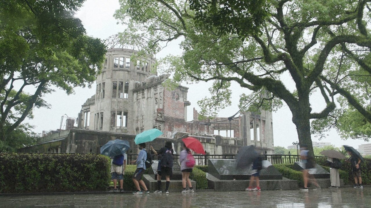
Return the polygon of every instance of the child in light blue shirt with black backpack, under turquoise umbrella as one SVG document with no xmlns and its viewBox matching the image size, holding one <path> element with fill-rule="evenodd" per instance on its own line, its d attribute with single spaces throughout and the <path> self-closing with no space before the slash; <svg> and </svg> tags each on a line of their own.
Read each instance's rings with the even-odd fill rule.
<svg viewBox="0 0 371 208">
<path fill-rule="evenodd" d="M 150 191 L 148 191 L 147 186 L 145 183 L 142 181 L 142 176 L 144 174 L 144 171 L 147 169 L 146 168 L 146 161 L 147 161 L 147 151 L 145 150 L 145 143 L 141 143 L 138 145 L 139 148 L 139 154 L 138 154 L 138 159 L 132 161 L 132 164 L 137 164 L 137 170 L 135 170 L 134 175 L 133 175 L 133 182 L 135 185 L 135 188 L 137 188 L 137 191 L 133 192 L 133 194 L 149 194 Z M 140 186 L 144 189 L 144 191 L 140 190 Z"/>
</svg>

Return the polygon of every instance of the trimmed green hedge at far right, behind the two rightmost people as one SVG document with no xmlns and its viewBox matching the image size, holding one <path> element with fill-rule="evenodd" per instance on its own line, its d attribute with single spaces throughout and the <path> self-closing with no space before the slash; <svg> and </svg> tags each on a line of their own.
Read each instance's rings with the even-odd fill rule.
<svg viewBox="0 0 371 208">
<path fill-rule="evenodd" d="M 365 161 L 361 163 L 361 177 L 363 185 L 371 185 L 371 159 L 364 158 Z M 326 158 L 316 158 L 316 163 L 322 166 L 326 165 Z M 352 176 L 352 170 L 349 162 L 341 160 L 342 167 L 339 171 L 340 178 L 344 179 L 345 185 L 354 184 L 354 178 Z M 341 173 L 344 171 L 343 173 Z"/>
</svg>

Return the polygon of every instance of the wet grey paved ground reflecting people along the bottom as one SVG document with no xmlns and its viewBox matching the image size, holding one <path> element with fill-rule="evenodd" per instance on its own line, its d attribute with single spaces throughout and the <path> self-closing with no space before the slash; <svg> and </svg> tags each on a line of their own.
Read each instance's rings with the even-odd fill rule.
<svg viewBox="0 0 371 208">
<path fill-rule="evenodd" d="M 307 192 L 213 192 L 75 195 L 0 195 L 0 208 L 370 208 L 370 188 L 311 189 Z"/>
</svg>

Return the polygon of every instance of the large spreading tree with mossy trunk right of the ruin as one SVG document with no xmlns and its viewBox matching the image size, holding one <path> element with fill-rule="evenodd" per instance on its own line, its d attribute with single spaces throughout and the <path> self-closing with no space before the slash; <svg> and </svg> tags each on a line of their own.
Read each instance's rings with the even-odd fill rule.
<svg viewBox="0 0 371 208">
<path fill-rule="evenodd" d="M 371 83 L 371 12 L 366 0 L 120 0 L 120 4 L 115 17 L 130 23 L 119 34 L 121 41 L 156 53 L 168 42 L 184 38 L 183 54 L 165 58 L 165 71 L 173 73 L 175 82 L 213 82 L 212 96 L 198 103 L 204 115 L 215 116 L 230 105 L 234 81 L 246 89 L 240 98 L 243 111 L 276 110 L 285 102 L 299 142 L 312 154 L 311 121 L 314 133 L 330 128 L 325 121 L 337 120 L 336 113 L 344 109 L 336 106 L 338 97 L 371 121 L 370 101 L 365 99 Z M 287 85 L 290 81 L 295 90 Z M 247 95 L 249 90 L 253 93 Z M 325 103 L 319 112 L 312 111 L 311 96 Z"/>
</svg>

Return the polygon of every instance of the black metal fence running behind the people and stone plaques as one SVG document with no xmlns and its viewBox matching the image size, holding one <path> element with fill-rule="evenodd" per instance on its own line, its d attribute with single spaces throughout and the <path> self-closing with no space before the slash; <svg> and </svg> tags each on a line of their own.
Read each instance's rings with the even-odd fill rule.
<svg viewBox="0 0 371 208">
<path fill-rule="evenodd" d="M 260 155 L 264 160 L 268 160 L 272 164 L 290 164 L 294 162 L 300 162 L 300 155 Z M 226 155 L 193 155 L 196 160 L 196 165 L 207 165 L 208 159 L 234 159 L 236 155 L 226 154 Z M 316 158 L 322 156 L 315 156 Z M 128 164 L 131 164 L 131 161 L 137 160 L 138 155 L 128 154 Z M 173 159 L 179 162 L 179 155 L 173 155 Z M 152 155 L 152 160 L 157 160 L 157 155 Z"/>
</svg>

